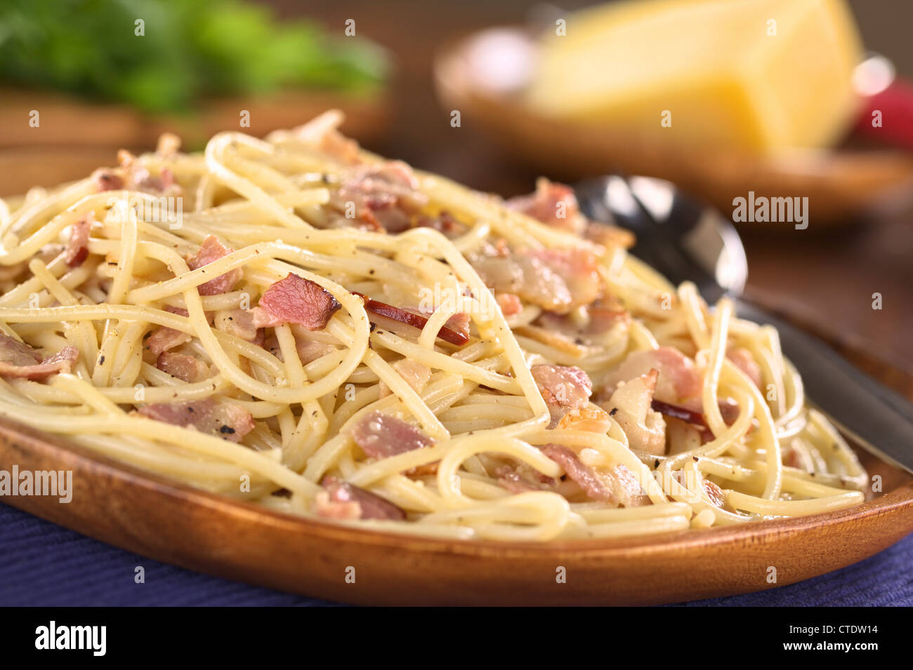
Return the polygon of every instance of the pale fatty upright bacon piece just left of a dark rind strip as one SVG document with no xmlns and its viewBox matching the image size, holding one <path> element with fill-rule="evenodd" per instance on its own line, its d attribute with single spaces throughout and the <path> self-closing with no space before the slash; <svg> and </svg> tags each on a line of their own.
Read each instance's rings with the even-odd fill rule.
<svg viewBox="0 0 913 670">
<path fill-rule="evenodd" d="M 631 447 L 650 454 L 666 453 L 666 422 L 651 409 L 656 390 L 656 370 L 619 386 L 603 405 L 624 430 Z"/>
</svg>

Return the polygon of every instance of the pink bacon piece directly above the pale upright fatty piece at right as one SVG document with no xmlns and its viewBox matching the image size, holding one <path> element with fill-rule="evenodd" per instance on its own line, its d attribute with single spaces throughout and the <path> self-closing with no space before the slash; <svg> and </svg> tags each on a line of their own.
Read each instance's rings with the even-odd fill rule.
<svg viewBox="0 0 913 670">
<path fill-rule="evenodd" d="M 697 399 L 695 408 L 699 410 L 701 377 L 698 368 L 694 361 L 671 346 L 632 352 L 606 379 L 606 388 L 612 389 L 619 382 L 646 375 L 654 369 L 659 374 L 654 396 L 657 400 L 689 406 L 684 401 Z"/>
</svg>

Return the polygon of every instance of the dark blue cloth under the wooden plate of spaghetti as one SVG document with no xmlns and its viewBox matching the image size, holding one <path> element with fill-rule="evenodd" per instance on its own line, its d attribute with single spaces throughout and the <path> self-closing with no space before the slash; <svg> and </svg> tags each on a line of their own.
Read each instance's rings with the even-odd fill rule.
<svg viewBox="0 0 913 670">
<path fill-rule="evenodd" d="M 142 565 L 145 583 L 133 582 Z M 142 558 L 0 503 L 0 605 L 296 605 L 315 598 Z M 913 605 L 913 535 L 866 561 L 771 591 L 692 605 Z"/>
</svg>

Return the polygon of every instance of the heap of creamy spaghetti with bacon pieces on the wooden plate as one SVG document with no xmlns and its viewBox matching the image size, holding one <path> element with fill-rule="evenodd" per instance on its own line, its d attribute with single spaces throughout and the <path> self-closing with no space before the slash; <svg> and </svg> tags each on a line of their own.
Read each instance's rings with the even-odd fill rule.
<svg viewBox="0 0 913 670">
<path fill-rule="evenodd" d="M 813 514 L 866 472 L 769 326 L 541 180 L 501 201 L 329 112 L 0 201 L 0 415 L 276 510 L 458 538 Z"/>
</svg>

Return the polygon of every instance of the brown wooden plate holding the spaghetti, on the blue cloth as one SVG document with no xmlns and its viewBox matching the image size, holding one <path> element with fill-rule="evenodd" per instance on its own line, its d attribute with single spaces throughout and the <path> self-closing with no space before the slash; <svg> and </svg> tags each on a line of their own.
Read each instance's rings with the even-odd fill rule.
<svg viewBox="0 0 913 670">
<path fill-rule="evenodd" d="M 852 356 L 870 371 L 871 356 Z M 891 369 L 882 379 L 913 388 Z M 861 561 L 913 531 L 913 479 L 857 449 L 882 494 L 846 510 L 624 540 L 417 538 L 263 510 L 174 484 L 0 421 L 0 469 L 73 470 L 73 498 L 9 497 L 39 517 L 158 561 L 363 604 L 674 603 L 782 586 Z M 563 567 L 567 581 L 556 582 Z M 768 582 L 776 569 L 775 583 Z M 346 581 L 354 568 L 355 581 Z"/>
</svg>

